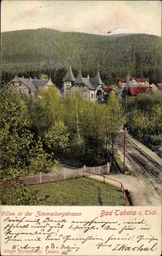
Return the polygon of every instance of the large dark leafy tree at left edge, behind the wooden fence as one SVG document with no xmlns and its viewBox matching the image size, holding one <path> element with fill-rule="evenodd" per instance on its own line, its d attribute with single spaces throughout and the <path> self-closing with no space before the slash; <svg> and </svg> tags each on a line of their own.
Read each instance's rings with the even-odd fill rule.
<svg viewBox="0 0 162 256">
<path fill-rule="evenodd" d="M 49 170 L 50 156 L 44 152 L 41 139 L 33 139 L 25 110 L 12 88 L 1 95 L 1 177 Z"/>
</svg>

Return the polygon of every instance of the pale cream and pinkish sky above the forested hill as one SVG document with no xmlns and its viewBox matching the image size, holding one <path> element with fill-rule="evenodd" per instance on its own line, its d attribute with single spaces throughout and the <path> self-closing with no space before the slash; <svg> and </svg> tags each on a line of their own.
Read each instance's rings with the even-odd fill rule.
<svg viewBox="0 0 162 256">
<path fill-rule="evenodd" d="M 50 28 L 104 35 L 146 33 L 161 36 L 161 1 L 1 2 L 1 32 Z"/>
</svg>

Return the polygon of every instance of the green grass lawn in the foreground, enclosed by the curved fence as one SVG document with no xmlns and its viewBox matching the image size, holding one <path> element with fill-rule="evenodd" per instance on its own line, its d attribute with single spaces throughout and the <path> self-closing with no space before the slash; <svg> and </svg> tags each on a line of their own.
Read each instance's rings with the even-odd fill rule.
<svg viewBox="0 0 162 256">
<path fill-rule="evenodd" d="M 90 178 L 32 185 L 31 191 L 38 190 L 41 205 L 125 205 L 123 194 L 118 187 Z M 50 197 L 44 199 L 45 195 Z"/>
</svg>

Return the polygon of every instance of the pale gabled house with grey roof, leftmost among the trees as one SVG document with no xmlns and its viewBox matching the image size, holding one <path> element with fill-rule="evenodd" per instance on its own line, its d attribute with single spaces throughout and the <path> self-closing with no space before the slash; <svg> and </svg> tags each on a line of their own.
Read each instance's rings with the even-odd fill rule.
<svg viewBox="0 0 162 256">
<path fill-rule="evenodd" d="M 7 86 L 14 86 L 16 91 L 19 94 L 26 94 L 28 96 L 34 96 L 35 94 L 38 94 L 40 88 L 48 88 L 48 87 L 55 87 L 53 82 L 50 79 L 47 80 L 39 80 L 24 77 L 17 77 L 15 76 L 8 84 Z"/>
</svg>

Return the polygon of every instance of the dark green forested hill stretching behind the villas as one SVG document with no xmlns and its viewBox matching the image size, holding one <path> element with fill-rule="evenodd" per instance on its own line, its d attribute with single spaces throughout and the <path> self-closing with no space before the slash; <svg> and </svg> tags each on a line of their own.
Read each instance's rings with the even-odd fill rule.
<svg viewBox="0 0 162 256">
<path fill-rule="evenodd" d="M 161 81 L 161 37 L 147 34 L 101 36 L 52 29 L 1 33 L 1 70 L 10 74 L 52 73 L 67 67 L 94 75 L 97 63 L 104 82 L 112 84 L 128 72 Z M 3 72 L 3 73 L 4 73 Z M 63 73 L 65 70 L 63 71 Z"/>
</svg>

